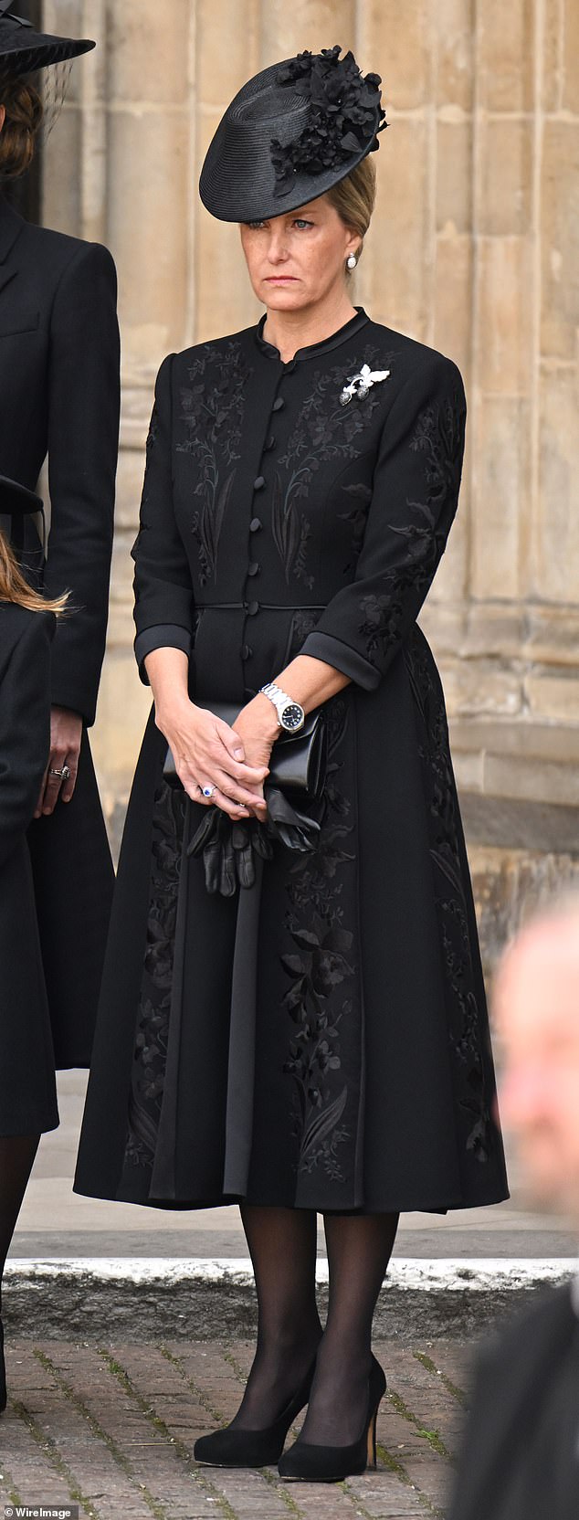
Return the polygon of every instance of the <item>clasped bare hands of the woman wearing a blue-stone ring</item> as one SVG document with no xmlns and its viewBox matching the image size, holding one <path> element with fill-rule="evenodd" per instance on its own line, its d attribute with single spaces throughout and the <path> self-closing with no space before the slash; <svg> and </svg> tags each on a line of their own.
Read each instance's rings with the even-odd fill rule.
<svg viewBox="0 0 579 1520">
<path fill-rule="evenodd" d="M 157 727 L 166 736 L 179 780 L 195 803 L 220 807 L 233 819 L 266 819 L 263 783 L 278 733 L 277 713 L 267 696 L 252 698 L 233 727 L 188 699 L 167 716 L 158 713 Z M 211 796 L 204 796 L 204 786 L 214 787 Z"/>
</svg>

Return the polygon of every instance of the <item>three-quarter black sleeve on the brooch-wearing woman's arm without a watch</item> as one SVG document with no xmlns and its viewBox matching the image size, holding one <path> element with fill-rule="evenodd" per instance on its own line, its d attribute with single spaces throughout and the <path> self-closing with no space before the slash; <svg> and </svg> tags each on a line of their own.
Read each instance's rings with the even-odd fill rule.
<svg viewBox="0 0 579 1520">
<path fill-rule="evenodd" d="M 191 649 L 193 587 L 187 553 L 175 521 L 172 476 L 172 366 L 163 360 L 147 438 L 135 561 L 135 657 L 147 684 L 144 658 L 153 649 Z"/>
</svg>

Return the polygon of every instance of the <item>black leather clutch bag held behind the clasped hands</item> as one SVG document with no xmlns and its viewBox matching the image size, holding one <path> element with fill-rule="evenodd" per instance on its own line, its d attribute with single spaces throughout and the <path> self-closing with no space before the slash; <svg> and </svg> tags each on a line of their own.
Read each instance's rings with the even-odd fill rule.
<svg viewBox="0 0 579 1520">
<path fill-rule="evenodd" d="M 216 717 L 222 717 L 229 725 L 240 713 L 236 702 L 198 702 L 196 705 L 205 707 L 207 711 L 214 713 Z M 312 798 L 312 801 L 318 801 L 325 783 L 325 763 L 327 728 L 324 711 L 318 707 L 305 714 L 304 725 L 298 733 L 280 731 L 280 737 L 274 742 L 266 786 L 277 786 L 280 792 L 287 792 L 296 800 Z M 170 786 L 182 786 L 170 749 L 167 749 L 163 775 Z"/>
</svg>

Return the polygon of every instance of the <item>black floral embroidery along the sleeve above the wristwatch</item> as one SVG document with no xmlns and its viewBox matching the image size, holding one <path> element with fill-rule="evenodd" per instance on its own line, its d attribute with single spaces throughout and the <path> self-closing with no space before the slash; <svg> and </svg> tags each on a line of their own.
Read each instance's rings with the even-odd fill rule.
<svg viewBox="0 0 579 1520">
<path fill-rule="evenodd" d="M 389 526 L 389 532 L 406 538 L 406 559 L 383 575 L 383 591 L 369 591 L 359 602 L 363 614 L 359 632 L 365 640 L 368 660 L 374 663 L 383 661 L 400 640 L 409 593 L 416 597 L 418 613 L 444 552 L 447 530 L 439 532 L 438 523 L 444 503 L 448 499 L 456 502 L 459 494 L 464 416 L 464 404 L 454 394 L 442 404 L 424 407 L 416 420 L 410 448 L 424 454 L 427 499 L 407 499 L 412 514 L 409 521 L 404 527 Z"/>
</svg>

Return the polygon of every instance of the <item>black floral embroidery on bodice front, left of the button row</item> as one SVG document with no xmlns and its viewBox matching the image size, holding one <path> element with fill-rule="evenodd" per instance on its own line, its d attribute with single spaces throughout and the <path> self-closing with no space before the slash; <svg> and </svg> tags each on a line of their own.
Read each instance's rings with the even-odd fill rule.
<svg viewBox="0 0 579 1520">
<path fill-rule="evenodd" d="M 185 441 L 178 453 L 193 454 L 199 477 L 195 496 L 202 499 L 191 521 L 198 543 L 199 584 L 217 578 L 219 538 L 240 458 L 245 391 L 252 374 L 239 342 L 223 348 L 204 344 L 188 368 L 188 386 L 181 386 L 181 420 Z M 222 477 L 217 453 L 228 468 Z"/>
</svg>

